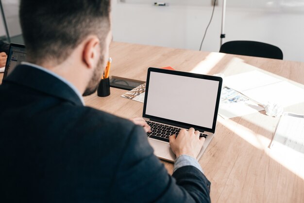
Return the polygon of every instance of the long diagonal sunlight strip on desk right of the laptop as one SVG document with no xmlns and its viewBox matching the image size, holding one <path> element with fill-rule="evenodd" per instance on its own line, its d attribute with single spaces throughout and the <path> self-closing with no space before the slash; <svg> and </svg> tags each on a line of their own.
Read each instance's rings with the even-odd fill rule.
<svg viewBox="0 0 304 203">
<path fill-rule="evenodd" d="M 227 129 L 235 132 L 234 134 L 251 144 L 253 147 L 263 150 L 272 160 L 287 168 L 289 171 L 304 180 L 304 158 L 294 153 L 283 153 L 268 148 L 271 140 L 261 134 L 253 132 L 233 120 L 218 120 Z"/>
</svg>

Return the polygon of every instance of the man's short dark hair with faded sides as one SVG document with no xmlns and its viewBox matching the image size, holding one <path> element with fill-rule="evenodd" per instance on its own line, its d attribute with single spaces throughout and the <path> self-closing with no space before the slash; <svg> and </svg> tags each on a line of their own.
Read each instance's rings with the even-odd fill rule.
<svg viewBox="0 0 304 203">
<path fill-rule="evenodd" d="M 101 45 L 110 30 L 110 0 L 21 0 L 19 18 L 29 62 L 63 62 L 85 37 Z"/>
</svg>

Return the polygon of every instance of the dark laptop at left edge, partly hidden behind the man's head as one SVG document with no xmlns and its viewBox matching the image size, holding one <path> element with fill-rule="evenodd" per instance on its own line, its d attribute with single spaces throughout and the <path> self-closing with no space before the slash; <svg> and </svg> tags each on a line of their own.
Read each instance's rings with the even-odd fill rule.
<svg viewBox="0 0 304 203">
<path fill-rule="evenodd" d="M 22 61 L 26 61 L 26 49 L 22 44 L 10 44 L 10 48 L 8 51 L 3 79 L 7 77 L 7 75 L 11 74 L 12 71 L 19 65 Z"/>
</svg>

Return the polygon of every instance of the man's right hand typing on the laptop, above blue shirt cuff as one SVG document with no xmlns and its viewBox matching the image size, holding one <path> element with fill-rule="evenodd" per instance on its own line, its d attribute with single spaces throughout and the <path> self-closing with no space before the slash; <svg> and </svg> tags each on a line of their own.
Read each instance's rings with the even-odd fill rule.
<svg viewBox="0 0 304 203">
<path fill-rule="evenodd" d="M 177 138 L 176 135 L 171 135 L 169 141 L 176 157 L 184 154 L 196 159 L 203 147 L 205 138 L 200 138 L 200 131 L 194 131 L 194 128 L 190 128 L 188 131 L 181 129 Z"/>
</svg>

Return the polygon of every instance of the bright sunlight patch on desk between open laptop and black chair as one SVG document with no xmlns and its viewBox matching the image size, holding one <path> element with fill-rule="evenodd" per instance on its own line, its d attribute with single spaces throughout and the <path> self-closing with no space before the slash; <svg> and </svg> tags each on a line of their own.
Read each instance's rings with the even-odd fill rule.
<svg viewBox="0 0 304 203">
<path fill-rule="evenodd" d="M 225 54 L 210 53 L 189 72 L 194 74 L 208 74 L 224 56 Z"/>
</svg>

